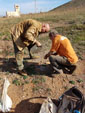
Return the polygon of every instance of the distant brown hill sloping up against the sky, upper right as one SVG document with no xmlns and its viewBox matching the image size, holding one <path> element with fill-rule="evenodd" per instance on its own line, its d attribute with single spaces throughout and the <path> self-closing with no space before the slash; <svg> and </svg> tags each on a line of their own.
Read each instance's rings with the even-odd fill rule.
<svg viewBox="0 0 85 113">
<path fill-rule="evenodd" d="M 71 0 L 70 2 L 61 5 L 57 8 L 52 9 L 51 11 L 62 11 L 62 10 L 69 10 L 73 8 L 85 8 L 85 0 Z"/>
</svg>

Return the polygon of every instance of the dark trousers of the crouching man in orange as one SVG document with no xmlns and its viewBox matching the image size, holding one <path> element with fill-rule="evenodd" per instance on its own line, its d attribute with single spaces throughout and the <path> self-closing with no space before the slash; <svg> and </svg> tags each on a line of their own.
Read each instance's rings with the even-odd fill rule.
<svg viewBox="0 0 85 113">
<path fill-rule="evenodd" d="M 71 64 L 68 61 L 68 59 L 64 56 L 51 55 L 49 57 L 49 61 L 51 63 L 51 66 L 52 66 L 53 70 L 56 71 L 56 72 L 59 72 L 59 70 L 61 70 L 61 69 L 63 71 L 66 71 L 66 68 L 67 68 L 72 73 L 76 68 L 76 65 Z"/>
</svg>

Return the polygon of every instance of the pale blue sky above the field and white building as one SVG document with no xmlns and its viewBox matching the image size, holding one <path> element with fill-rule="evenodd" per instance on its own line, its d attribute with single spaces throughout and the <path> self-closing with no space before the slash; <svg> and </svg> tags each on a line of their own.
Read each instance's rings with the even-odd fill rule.
<svg viewBox="0 0 85 113">
<path fill-rule="evenodd" d="M 5 16 L 6 11 L 14 11 L 14 4 L 20 6 L 22 14 L 28 14 L 47 12 L 69 1 L 71 0 L 0 0 L 0 16 Z"/>
</svg>

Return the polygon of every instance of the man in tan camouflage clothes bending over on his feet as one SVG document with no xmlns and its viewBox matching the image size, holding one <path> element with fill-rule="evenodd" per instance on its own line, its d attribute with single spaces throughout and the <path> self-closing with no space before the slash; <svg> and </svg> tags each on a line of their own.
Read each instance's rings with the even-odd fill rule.
<svg viewBox="0 0 85 113">
<path fill-rule="evenodd" d="M 11 28 L 11 36 L 13 40 L 18 72 L 21 75 L 26 75 L 23 65 L 24 48 L 28 47 L 30 58 L 30 48 L 33 45 L 41 47 L 41 43 L 36 40 L 39 33 L 45 33 L 50 30 L 49 24 L 42 24 L 36 20 L 28 19 Z"/>
</svg>

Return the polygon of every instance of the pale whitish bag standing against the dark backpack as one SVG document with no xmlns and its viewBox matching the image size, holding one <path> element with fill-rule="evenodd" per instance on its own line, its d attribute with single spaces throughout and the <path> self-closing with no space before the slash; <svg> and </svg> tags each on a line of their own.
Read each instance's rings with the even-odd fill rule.
<svg viewBox="0 0 85 113">
<path fill-rule="evenodd" d="M 48 97 L 45 102 L 42 104 L 39 113 L 56 113 L 57 107 L 52 102 L 52 100 Z"/>
</svg>

